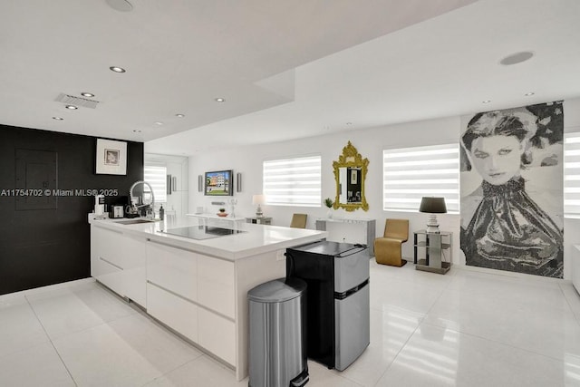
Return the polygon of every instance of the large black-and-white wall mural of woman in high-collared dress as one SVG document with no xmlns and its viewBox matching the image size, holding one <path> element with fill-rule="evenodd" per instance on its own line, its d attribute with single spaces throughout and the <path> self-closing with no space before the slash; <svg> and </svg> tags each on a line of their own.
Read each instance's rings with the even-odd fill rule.
<svg viewBox="0 0 580 387">
<path fill-rule="evenodd" d="M 466 265 L 563 277 L 562 102 L 476 114 L 461 135 Z"/>
</svg>

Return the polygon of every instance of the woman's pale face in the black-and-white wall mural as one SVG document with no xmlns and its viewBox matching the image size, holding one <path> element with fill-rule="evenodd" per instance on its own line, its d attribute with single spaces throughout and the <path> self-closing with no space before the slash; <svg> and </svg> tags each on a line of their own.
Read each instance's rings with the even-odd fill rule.
<svg viewBox="0 0 580 387">
<path fill-rule="evenodd" d="M 478 137 L 471 143 L 471 161 L 479 175 L 495 186 L 519 176 L 522 143 L 516 136 Z"/>
</svg>

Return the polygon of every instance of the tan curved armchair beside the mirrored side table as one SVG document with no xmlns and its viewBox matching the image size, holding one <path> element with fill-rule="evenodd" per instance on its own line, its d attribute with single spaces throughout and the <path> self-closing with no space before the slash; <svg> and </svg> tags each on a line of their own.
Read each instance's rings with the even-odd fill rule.
<svg viewBox="0 0 580 387">
<path fill-rule="evenodd" d="M 374 259 L 378 264 L 403 266 L 407 263 L 401 258 L 401 245 L 409 239 L 408 219 L 387 219 L 384 237 L 374 239 Z"/>
</svg>

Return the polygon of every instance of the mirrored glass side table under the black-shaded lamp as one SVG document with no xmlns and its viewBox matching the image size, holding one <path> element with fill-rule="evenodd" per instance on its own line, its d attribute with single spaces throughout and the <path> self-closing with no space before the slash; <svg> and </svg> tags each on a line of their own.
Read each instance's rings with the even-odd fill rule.
<svg viewBox="0 0 580 387">
<path fill-rule="evenodd" d="M 441 231 L 428 233 L 426 230 L 413 232 L 413 263 L 415 269 L 445 274 L 451 267 L 453 233 Z M 443 259 L 445 257 L 445 259 Z"/>
</svg>

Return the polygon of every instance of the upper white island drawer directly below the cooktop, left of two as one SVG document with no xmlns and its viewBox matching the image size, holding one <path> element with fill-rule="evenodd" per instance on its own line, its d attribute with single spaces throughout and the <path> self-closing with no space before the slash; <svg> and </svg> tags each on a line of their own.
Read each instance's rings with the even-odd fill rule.
<svg viewBox="0 0 580 387">
<path fill-rule="evenodd" d="M 198 254 L 151 242 L 147 246 L 147 279 L 198 301 Z"/>
</svg>

